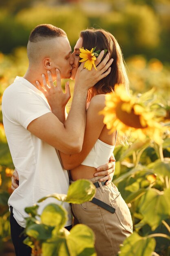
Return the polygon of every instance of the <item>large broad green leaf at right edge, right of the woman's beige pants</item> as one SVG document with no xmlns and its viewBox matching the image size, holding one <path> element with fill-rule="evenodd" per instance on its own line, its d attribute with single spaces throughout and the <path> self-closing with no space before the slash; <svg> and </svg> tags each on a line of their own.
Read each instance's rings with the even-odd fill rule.
<svg viewBox="0 0 170 256">
<path fill-rule="evenodd" d="M 170 189 L 165 191 L 148 190 L 141 197 L 139 213 L 144 217 L 142 222 L 147 223 L 152 230 L 155 230 L 162 220 L 170 216 Z"/>
</svg>

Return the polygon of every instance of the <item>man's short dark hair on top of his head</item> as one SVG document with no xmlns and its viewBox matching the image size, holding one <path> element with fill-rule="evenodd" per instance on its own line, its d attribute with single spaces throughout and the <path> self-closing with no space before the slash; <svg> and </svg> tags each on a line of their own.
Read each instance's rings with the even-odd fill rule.
<svg viewBox="0 0 170 256">
<path fill-rule="evenodd" d="M 29 36 L 29 41 L 32 43 L 37 43 L 38 41 L 44 40 L 45 38 L 54 38 L 64 36 L 66 37 L 66 32 L 59 27 L 55 27 L 51 24 L 41 24 L 35 27 Z"/>
</svg>

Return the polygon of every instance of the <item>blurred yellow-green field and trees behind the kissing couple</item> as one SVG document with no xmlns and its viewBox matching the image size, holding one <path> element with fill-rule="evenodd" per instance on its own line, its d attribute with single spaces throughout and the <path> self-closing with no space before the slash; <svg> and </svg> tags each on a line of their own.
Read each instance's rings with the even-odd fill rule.
<svg viewBox="0 0 170 256">
<path fill-rule="evenodd" d="M 64 29 L 72 49 L 81 30 L 88 27 L 108 30 L 121 46 L 130 88 L 142 93 L 154 87 L 155 93 L 170 99 L 169 0 L 1 0 L 0 103 L 15 76 L 24 75 L 29 34 L 41 23 Z M 3 256 L 13 256 L 7 207 L 13 168 L 0 111 L 0 255 Z"/>
</svg>

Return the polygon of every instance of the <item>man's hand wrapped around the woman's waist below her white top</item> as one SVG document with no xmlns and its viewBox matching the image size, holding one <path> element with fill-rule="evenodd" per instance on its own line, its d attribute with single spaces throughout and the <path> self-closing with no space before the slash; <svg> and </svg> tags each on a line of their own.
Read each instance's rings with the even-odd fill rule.
<svg viewBox="0 0 170 256">
<path fill-rule="evenodd" d="M 110 157 L 110 162 L 108 164 L 99 166 L 97 168 L 97 173 L 95 173 L 94 176 L 97 177 L 97 176 L 105 175 L 105 177 L 99 179 L 99 181 L 102 182 L 107 180 L 106 185 L 108 185 L 113 180 L 114 173 L 115 173 L 115 157 L 112 154 Z"/>
</svg>

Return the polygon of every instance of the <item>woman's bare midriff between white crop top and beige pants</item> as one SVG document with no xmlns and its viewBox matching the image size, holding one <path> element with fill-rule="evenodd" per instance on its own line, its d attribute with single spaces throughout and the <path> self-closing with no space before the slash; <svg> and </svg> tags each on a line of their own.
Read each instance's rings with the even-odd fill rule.
<svg viewBox="0 0 170 256">
<path fill-rule="evenodd" d="M 79 180 L 79 179 L 92 179 L 94 178 L 94 173 L 96 173 L 96 168 L 79 165 L 73 170 L 70 170 L 71 180 Z"/>
</svg>

